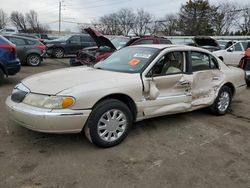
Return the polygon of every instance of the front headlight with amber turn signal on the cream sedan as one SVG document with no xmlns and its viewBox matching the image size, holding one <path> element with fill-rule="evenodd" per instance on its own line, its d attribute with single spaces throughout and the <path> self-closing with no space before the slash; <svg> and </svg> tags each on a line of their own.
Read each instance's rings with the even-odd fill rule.
<svg viewBox="0 0 250 188">
<path fill-rule="evenodd" d="M 66 96 L 48 96 L 29 93 L 25 96 L 23 103 L 39 108 L 63 109 L 72 106 L 75 103 L 75 99 Z"/>
</svg>

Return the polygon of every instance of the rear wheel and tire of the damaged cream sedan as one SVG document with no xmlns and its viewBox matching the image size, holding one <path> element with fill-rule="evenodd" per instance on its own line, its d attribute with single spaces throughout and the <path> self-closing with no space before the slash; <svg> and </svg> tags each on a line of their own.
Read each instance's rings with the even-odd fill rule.
<svg viewBox="0 0 250 188">
<path fill-rule="evenodd" d="M 215 115 L 224 115 L 230 108 L 232 91 L 227 86 L 222 86 L 213 105 L 210 107 Z"/>
</svg>

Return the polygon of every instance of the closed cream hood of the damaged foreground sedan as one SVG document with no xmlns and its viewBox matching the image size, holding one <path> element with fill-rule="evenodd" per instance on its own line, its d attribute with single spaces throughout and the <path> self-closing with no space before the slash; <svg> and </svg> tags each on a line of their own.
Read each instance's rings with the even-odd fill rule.
<svg viewBox="0 0 250 188">
<path fill-rule="evenodd" d="M 126 80 L 129 73 L 120 73 L 94 69 L 90 67 L 64 68 L 30 76 L 22 83 L 32 92 L 56 95 L 64 90 L 79 85 L 103 86 L 104 83 L 114 87 L 118 80 Z M 89 88 L 86 88 L 89 89 Z"/>
</svg>

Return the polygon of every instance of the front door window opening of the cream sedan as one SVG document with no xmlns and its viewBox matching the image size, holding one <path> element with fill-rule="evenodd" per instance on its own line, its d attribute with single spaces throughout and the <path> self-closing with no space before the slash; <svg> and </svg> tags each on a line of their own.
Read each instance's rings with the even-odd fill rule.
<svg viewBox="0 0 250 188">
<path fill-rule="evenodd" d="M 182 73 L 184 71 L 184 57 L 184 52 L 169 52 L 159 59 L 149 74 L 152 76 L 164 76 Z"/>
</svg>

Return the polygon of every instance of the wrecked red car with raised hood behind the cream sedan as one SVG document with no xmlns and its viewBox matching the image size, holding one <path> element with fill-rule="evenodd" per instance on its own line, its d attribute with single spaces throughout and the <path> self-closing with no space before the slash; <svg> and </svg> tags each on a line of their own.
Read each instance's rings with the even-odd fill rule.
<svg viewBox="0 0 250 188">
<path fill-rule="evenodd" d="M 164 37 L 157 36 L 137 36 L 137 37 L 123 37 L 117 36 L 108 39 L 100 32 L 86 28 L 84 29 L 96 42 L 96 47 L 84 48 L 77 52 L 76 58 L 70 59 L 71 66 L 77 65 L 94 65 L 102 59 L 110 56 L 114 51 L 130 45 L 141 44 L 172 44 L 170 40 Z"/>
</svg>

